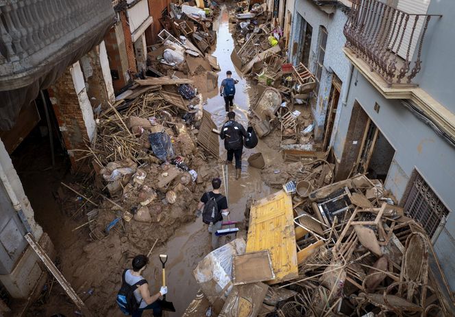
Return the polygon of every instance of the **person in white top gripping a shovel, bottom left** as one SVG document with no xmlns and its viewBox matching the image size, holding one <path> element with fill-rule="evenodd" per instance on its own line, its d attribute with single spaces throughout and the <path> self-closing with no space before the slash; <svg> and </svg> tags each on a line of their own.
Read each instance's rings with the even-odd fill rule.
<svg viewBox="0 0 455 317">
<path fill-rule="evenodd" d="M 123 281 L 128 285 L 136 285 L 134 290 L 134 299 L 138 303 L 138 309 L 134 312 L 128 312 L 132 317 L 140 317 L 147 309 L 153 310 L 153 316 L 162 316 L 162 307 L 160 296 L 167 294 L 167 286 L 162 286 L 160 292 L 151 295 L 149 290 L 149 283 L 143 278 L 142 273 L 149 263 L 149 258 L 145 255 L 136 255 L 132 261 L 132 270 L 125 270 L 123 273 Z"/>
</svg>

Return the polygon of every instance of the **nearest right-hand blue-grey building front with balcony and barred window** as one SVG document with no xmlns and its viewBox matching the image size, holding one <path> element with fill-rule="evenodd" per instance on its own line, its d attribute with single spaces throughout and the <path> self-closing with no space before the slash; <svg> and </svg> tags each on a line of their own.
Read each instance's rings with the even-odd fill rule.
<svg viewBox="0 0 455 317">
<path fill-rule="evenodd" d="M 353 69 L 332 139 L 336 177 L 382 179 L 426 229 L 454 290 L 455 3 L 386 2 L 356 1 L 345 23 Z"/>
</svg>

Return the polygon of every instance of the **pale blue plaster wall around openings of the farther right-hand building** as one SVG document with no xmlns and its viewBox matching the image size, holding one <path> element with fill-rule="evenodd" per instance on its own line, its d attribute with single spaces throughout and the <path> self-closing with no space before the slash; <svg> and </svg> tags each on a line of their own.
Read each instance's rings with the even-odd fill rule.
<svg viewBox="0 0 455 317">
<path fill-rule="evenodd" d="M 319 88 L 319 95 L 317 96 L 316 107 L 312 109 L 312 115 L 315 118 L 315 140 L 320 141 L 323 137 L 325 115 L 327 113 L 328 100 L 330 98 L 333 73 L 335 73 L 344 84 L 349 71 L 349 61 L 342 51 L 346 42 L 346 38 L 343 34 L 343 27 L 347 20 L 347 16 L 340 8 L 336 8 L 334 14 L 327 14 L 323 12 L 318 5 L 315 5 L 315 3 L 310 0 L 295 0 L 292 40 L 289 41 L 289 51 L 291 54 L 292 43 L 299 41 L 300 25 L 295 23 L 295 15 L 297 13 L 312 26 L 310 58 L 308 62 L 308 68 L 312 71 L 312 73 L 315 73 L 316 71 L 317 53 L 320 41 L 320 26 L 323 25 L 323 27 L 325 27 L 328 31 L 327 45 L 325 46 L 325 57 L 323 62 L 324 67 L 321 75 L 321 86 Z M 342 97 L 343 96 L 341 96 L 339 100 L 340 104 Z"/>
</svg>

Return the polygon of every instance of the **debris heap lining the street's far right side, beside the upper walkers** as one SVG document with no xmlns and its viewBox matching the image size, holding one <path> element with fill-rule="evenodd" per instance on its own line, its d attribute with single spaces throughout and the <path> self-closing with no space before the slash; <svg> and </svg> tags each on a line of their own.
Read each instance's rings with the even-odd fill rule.
<svg viewBox="0 0 455 317">
<path fill-rule="evenodd" d="M 236 43 L 232 61 L 256 88 L 250 96 L 250 122 L 258 137 L 274 150 L 321 156 L 323 146 L 312 141 L 315 76 L 304 64 L 295 67 L 287 61 L 283 31 L 271 26 L 265 4 L 239 2 L 230 21 Z"/>
</svg>

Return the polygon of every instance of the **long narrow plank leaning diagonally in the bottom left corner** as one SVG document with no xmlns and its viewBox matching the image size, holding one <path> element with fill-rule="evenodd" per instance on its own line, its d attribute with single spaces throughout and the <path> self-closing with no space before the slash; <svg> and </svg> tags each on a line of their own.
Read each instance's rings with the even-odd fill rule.
<svg viewBox="0 0 455 317">
<path fill-rule="evenodd" d="M 56 268 L 54 263 L 51 261 L 49 256 L 46 254 L 45 250 L 41 248 L 39 244 L 35 242 L 35 238 L 33 237 L 32 233 L 27 233 L 25 236 L 25 239 L 29 243 L 29 245 L 32 247 L 32 249 L 36 252 L 36 255 L 41 259 L 42 263 L 45 264 L 46 268 L 49 270 L 49 272 L 52 273 L 53 277 L 56 278 L 58 283 L 62 286 L 66 294 L 71 298 L 71 300 L 75 303 L 77 308 L 79 308 L 84 314 L 84 316 L 90 317 L 93 316 L 89 311 L 84 302 L 82 301 L 79 296 L 77 296 L 76 292 L 73 290 L 73 287 L 71 287 L 71 284 L 66 281 L 62 273 Z"/>
</svg>

